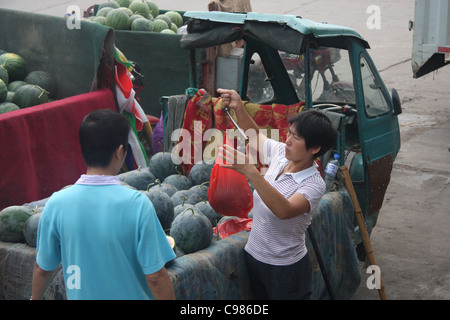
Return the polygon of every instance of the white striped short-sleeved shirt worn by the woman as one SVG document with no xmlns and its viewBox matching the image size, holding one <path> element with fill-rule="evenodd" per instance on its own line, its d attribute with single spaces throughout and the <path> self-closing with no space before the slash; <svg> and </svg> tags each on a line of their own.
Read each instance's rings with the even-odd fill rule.
<svg viewBox="0 0 450 320">
<path fill-rule="evenodd" d="M 264 176 L 285 198 L 302 194 L 310 205 L 310 211 L 291 219 L 279 219 L 262 201 L 258 192 L 253 193 L 253 224 L 245 250 L 255 259 L 271 265 L 291 265 L 306 253 L 305 232 L 311 223 L 312 212 L 325 192 L 317 165 L 296 173 L 276 177 L 288 164 L 285 144 L 267 139 L 263 154 L 269 168 Z"/>
</svg>

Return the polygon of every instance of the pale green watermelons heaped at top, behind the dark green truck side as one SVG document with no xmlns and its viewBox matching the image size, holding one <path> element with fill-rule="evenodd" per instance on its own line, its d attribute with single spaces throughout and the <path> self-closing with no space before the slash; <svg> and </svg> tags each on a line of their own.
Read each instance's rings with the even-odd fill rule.
<svg viewBox="0 0 450 320">
<path fill-rule="evenodd" d="M 183 25 L 183 17 L 174 10 L 160 14 L 152 1 L 116 0 L 103 2 L 97 14 L 87 21 L 99 23 L 115 30 L 132 30 L 176 34 Z"/>
</svg>

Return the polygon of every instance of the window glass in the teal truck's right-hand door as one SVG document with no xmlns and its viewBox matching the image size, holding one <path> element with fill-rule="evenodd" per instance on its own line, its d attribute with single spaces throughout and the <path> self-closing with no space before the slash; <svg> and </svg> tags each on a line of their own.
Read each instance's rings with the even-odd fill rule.
<svg viewBox="0 0 450 320">
<path fill-rule="evenodd" d="M 383 88 L 375 77 L 364 55 L 360 60 L 361 79 L 364 92 L 364 109 L 368 117 L 376 117 L 389 112 L 389 104 L 383 94 Z"/>
</svg>

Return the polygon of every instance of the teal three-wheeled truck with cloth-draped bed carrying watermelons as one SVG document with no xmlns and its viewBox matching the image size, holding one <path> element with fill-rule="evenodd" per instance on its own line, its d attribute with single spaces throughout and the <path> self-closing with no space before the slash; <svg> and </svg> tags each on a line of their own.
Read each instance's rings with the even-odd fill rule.
<svg viewBox="0 0 450 320">
<path fill-rule="evenodd" d="M 340 155 L 340 164 L 349 168 L 364 216 L 364 229 L 370 234 L 400 149 L 397 115 L 401 107 L 395 89 L 388 91 L 378 74 L 367 51 L 368 43 L 352 29 L 292 15 L 186 12 L 184 16 L 188 33 L 168 36 L 177 37 L 182 50 L 189 52 L 183 57 L 188 57 L 184 71 L 190 74 L 190 90 L 180 94 L 191 97 L 197 88 L 206 88 L 212 101 L 217 102 L 215 90 L 219 86 L 236 89 L 256 112 L 268 112 L 266 125 L 276 129 L 283 129 L 277 127 L 283 123 L 279 118 L 285 119 L 292 112 L 304 108 L 326 112 L 338 130 L 333 152 Z M 118 32 L 117 37 L 131 43 L 133 33 Z M 145 38 L 142 34 L 138 37 Z M 152 39 L 152 46 L 156 47 L 163 37 Z M 173 39 L 176 38 L 170 42 Z M 208 52 L 236 41 L 243 41 L 243 47 L 233 48 L 226 56 Z M 123 51 L 132 59 L 132 47 Z M 160 75 L 150 72 L 149 77 L 152 76 L 157 79 Z M 171 77 L 171 81 L 176 79 Z M 158 94 L 163 104 L 152 115 L 170 113 L 172 93 L 161 89 Z M 210 123 L 216 126 L 220 110 L 214 110 L 214 104 L 211 108 Z M 278 117 L 278 122 L 274 117 Z M 330 156 L 320 159 L 322 169 Z M 312 298 L 351 298 L 360 285 L 360 260 L 365 259 L 366 252 L 355 219 L 354 201 L 341 174 L 322 198 L 310 229 L 310 235 L 315 235 L 313 241 L 307 238 L 314 271 Z M 176 297 L 251 299 L 243 255 L 247 238 L 248 231 L 241 231 L 175 259 L 168 271 Z M 1 249 L 2 270 L 7 270 L 1 275 L 1 292 L 6 298 L 27 298 L 34 248 L 2 243 Z M 15 272 L 20 276 L 15 276 Z M 53 280 L 47 299 L 65 297 L 62 272 Z"/>
</svg>

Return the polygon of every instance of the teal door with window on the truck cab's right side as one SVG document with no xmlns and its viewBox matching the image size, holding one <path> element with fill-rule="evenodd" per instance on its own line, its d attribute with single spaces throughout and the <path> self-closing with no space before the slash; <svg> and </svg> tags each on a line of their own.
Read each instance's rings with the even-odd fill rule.
<svg viewBox="0 0 450 320">
<path fill-rule="evenodd" d="M 394 104 L 368 53 L 353 55 L 358 104 L 358 130 L 365 167 L 369 215 L 381 208 L 392 164 L 400 149 Z"/>
</svg>

